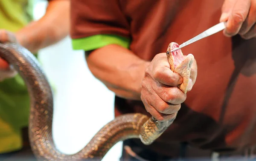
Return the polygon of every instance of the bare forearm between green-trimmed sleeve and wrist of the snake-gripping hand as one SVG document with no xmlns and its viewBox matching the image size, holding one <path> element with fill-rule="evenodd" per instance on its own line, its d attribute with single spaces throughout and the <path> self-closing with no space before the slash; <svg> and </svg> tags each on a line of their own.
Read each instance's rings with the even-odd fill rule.
<svg viewBox="0 0 256 161">
<path fill-rule="evenodd" d="M 118 45 L 96 49 L 86 60 L 92 74 L 116 95 L 140 100 L 141 81 L 149 62 Z"/>
</svg>

